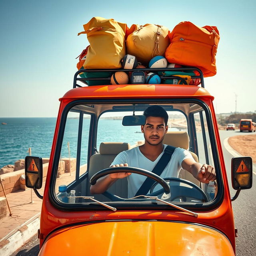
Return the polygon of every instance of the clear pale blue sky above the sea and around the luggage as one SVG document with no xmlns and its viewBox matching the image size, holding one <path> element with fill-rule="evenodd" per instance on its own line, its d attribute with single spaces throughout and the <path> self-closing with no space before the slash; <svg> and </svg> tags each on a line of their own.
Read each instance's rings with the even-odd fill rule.
<svg viewBox="0 0 256 256">
<path fill-rule="evenodd" d="M 88 45 L 92 17 L 132 24 L 217 26 L 217 74 L 205 78 L 216 113 L 256 111 L 256 2 L 0 0 L 0 117 L 56 117 Z M 235 100 L 237 100 L 235 104 Z"/>
</svg>

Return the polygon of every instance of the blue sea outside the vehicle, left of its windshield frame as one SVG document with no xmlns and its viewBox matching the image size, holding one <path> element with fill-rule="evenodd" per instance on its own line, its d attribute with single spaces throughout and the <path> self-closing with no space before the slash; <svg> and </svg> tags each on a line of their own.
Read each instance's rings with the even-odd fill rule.
<svg viewBox="0 0 256 256">
<path fill-rule="evenodd" d="M 6 123 L 6 125 L 2 124 Z M 50 157 L 56 118 L 0 118 L 0 168 L 28 156 Z"/>
</svg>

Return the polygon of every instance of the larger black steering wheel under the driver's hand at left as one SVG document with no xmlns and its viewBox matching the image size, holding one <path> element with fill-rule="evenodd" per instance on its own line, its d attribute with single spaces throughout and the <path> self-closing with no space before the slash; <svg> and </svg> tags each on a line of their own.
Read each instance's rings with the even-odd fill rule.
<svg viewBox="0 0 256 256">
<path fill-rule="evenodd" d="M 160 176 L 158 176 L 157 174 L 154 174 L 153 172 L 149 172 L 147 170 L 141 169 L 141 168 L 135 168 L 135 167 L 128 167 L 128 166 L 123 166 L 123 167 L 110 167 L 110 168 L 106 168 L 104 170 L 101 170 L 99 172 L 97 172 L 96 174 L 94 174 L 92 176 L 92 178 L 90 179 L 90 184 L 94 185 L 96 184 L 97 180 L 99 178 L 101 178 L 102 176 L 108 175 L 108 174 L 112 174 L 112 173 L 118 173 L 118 172 L 132 172 L 132 173 L 136 173 L 136 174 L 141 174 L 144 175 L 146 177 L 152 178 L 153 180 L 155 180 L 156 184 L 160 184 L 162 186 L 161 189 L 161 193 L 166 193 L 167 195 L 170 194 L 170 186 L 169 184 Z M 144 199 L 128 199 L 128 198 L 121 198 L 119 196 L 116 196 L 110 192 L 105 191 L 104 193 L 102 193 L 104 196 L 108 197 L 110 200 L 113 201 L 145 201 Z M 150 193 L 147 194 L 146 196 L 156 196 L 156 192 L 154 193 Z"/>
</svg>

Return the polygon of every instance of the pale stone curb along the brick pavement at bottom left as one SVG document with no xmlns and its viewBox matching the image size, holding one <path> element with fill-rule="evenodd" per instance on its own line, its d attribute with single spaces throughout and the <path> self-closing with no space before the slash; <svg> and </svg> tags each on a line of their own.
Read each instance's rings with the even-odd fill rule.
<svg viewBox="0 0 256 256">
<path fill-rule="evenodd" d="M 40 227 L 40 216 L 30 223 L 20 226 L 17 231 L 0 242 L 0 255 L 10 256 L 37 233 Z"/>
</svg>

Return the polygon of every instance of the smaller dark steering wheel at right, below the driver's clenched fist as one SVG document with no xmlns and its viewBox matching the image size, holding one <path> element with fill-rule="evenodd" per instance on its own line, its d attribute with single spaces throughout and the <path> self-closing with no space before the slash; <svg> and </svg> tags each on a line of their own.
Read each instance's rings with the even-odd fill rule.
<svg viewBox="0 0 256 256">
<path fill-rule="evenodd" d="M 186 202 L 187 198 L 194 198 L 195 200 L 200 200 L 201 202 L 209 202 L 208 197 L 206 196 L 204 191 L 189 180 L 183 180 L 180 178 L 164 178 L 164 180 L 169 181 L 169 185 L 172 188 L 171 197 L 169 199 L 170 201 L 174 201 L 176 198 L 182 198 L 183 202 Z M 184 183 L 186 185 L 191 186 L 192 188 L 188 188 L 187 186 L 180 186 L 180 184 L 174 185 L 171 184 L 171 182 Z M 156 182 L 152 185 L 152 187 L 150 188 L 150 194 L 153 194 L 153 190 L 156 187 L 156 185 Z M 163 189 L 154 192 L 154 194 L 158 195 L 162 193 L 164 193 Z"/>
</svg>

